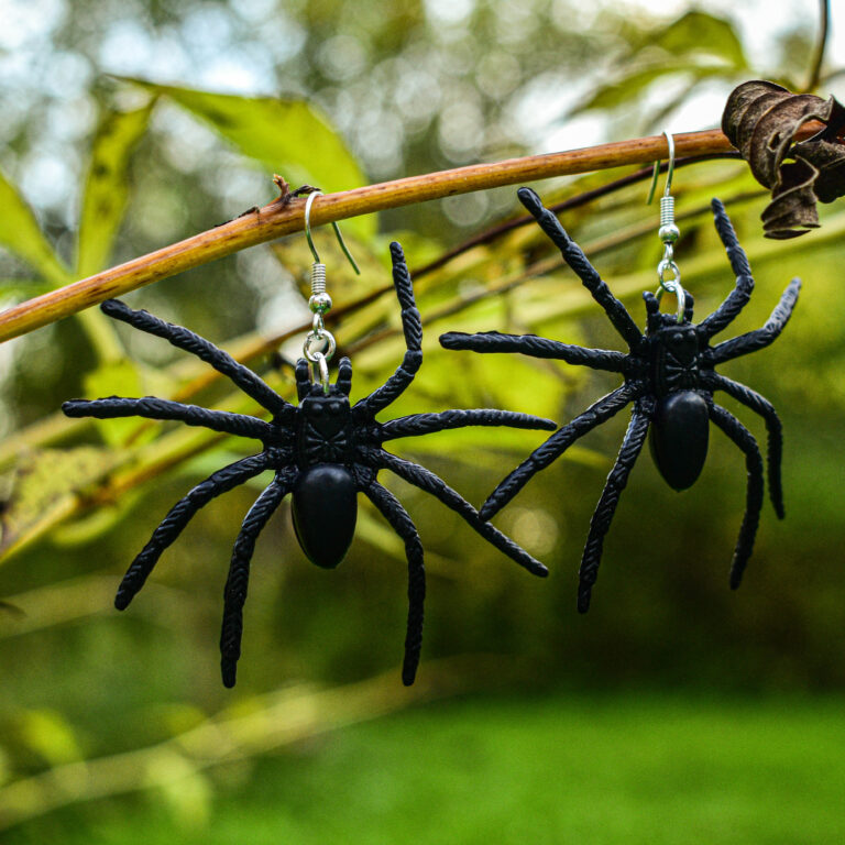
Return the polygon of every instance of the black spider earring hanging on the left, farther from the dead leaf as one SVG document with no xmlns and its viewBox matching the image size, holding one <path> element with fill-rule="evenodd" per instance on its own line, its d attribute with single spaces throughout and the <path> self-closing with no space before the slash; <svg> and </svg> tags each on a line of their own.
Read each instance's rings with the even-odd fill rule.
<svg viewBox="0 0 845 845">
<path fill-rule="evenodd" d="M 314 201 L 308 197 L 308 212 Z M 310 237 L 309 237 L 310 241 Z M 314 249 L 311 244 L 311 249 Z M 250 575 L 250 561 L 255 540 L 282 500 L 293 493 L 293 517 L 296 535 L 306 556 L 317 566 L 337 567 L 349 548 L 355 527 L 356 496 L 364 493 L 391 527 L 405 542 L 408 562 L 408 621 L 402 679 L 414 682 L 422 640 L 422 604 L 426 592 L 422 545 L 410 516 L 399 501 L 376 480 L 389 470 L 408 483 L 430 493 L 451 508 L 484 539 L 535 575 L 548 574 L 546 567 L 520 549 L 493 526 L 456 491 L 430 470 L 411 463 L 383 448 L 383 443 L 402 437 L 418 437 L 435 431 L 465 426 L 509 426 L 513 428 L 556 428 L 548 419 L 494 409 L 452 409 L 411 414 L 386 422 L 375 415 L 393 403 L 414 381 L 422 362 L 420 342 L 422 326 L 414 301 L 410 275 L 402 246 L 391 244 L 393 281 L 402 308 L 406 352 L 396 372 L 376 391 L 350 407 L 352 365 L 340 360 L 334 384 L 329 382 L 328 362 L 334 351 L 334 339 L 322 325 L 322 315 L 331 307 L 325 292 L 325 268 L 315 270 L 317 283 L 310 299 L 315 312 L 314 329 L 305 341 L 306 359 L 296 364 L 298 405 L 293 405 L 248 367 L 223 350 L 180 326 L 174 326 L 146 311 L 134 311 L 117 299 L 101 305 L 114 319 L 133 328 L 164 338 L 179 349 L 197 355 L 231 378 L 270 415 L 270 421 L 242 414 L 209 410 L 155 397 L 72 399 L 62 408 L 69 417 L 140 416 L 150 419 L 180 420 L 239 437 L 259 440 L 262 449 L 250 458 L 224 467 L 194 487 L 171 508 L 150 541 L 130 566 L 118 590 L 114 604 L 123 610 L 141 590 L 162 552 L 173 544 L 194 515 L 212 498 L 243 484 L 265 470 L 275 475 L 259 496 L 243 520 L 232 550 L 226 582 L 224 611 L 220 636 L 223 683 L 233 687 L 241 654 L 243 605 Z M 315 264 L 319 259 L 315 251 Z M 315 375 L 309 373 L 309 361 Z"/>
</svg>

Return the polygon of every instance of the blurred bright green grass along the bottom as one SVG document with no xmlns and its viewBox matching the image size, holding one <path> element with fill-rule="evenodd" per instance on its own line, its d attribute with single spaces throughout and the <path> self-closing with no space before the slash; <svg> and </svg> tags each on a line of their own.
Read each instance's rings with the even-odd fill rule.
<svg viewBox="0 0 845 845">
<path fill-rule="evenodd" d="M 845 842 L 845 702 L 628 694 L 468 700 L 262 760 L 188 830 L 151 798 L 9 845 Z"/>
</svg>

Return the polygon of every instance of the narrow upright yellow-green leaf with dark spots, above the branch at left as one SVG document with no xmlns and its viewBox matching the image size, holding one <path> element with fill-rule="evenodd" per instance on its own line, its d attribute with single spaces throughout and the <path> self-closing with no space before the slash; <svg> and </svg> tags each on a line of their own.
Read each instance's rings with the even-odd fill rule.
<svg viewBox="0 0 845 845">
<path fill-rule="evenodd" d="M 100 117 L 79 216 L 76 271 L 80 278 L 108 264 L 129 196 L 127 168 L 154 102 L 133 111 L 109 109 Z"/>
</svg>

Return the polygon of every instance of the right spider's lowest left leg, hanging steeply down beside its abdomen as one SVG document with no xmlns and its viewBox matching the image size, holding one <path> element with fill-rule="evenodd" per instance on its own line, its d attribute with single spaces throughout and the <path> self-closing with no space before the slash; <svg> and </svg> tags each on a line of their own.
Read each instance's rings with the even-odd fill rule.
<svg viewBox="0 0 845 845">
<path fill-rule="evenodd" d="M 643 443 L 646 441 L 651 414 L 655 409 L 652 397 L 641 398 L 634 405 L 628 430 L 622 441 L 616 463 L 613 464 L 607 481 L 602 491 L 599 504 L 595 506 L 593 518 L 590 520 L 590 534 L 586 537 L 584 553 L 581 557 L 578 584 L 578 611 L 586 613 L 590 610 L 590 594 L 599 577 L 599 564 L 602 562 L 602 546 L 604 537 L 611 528 L 611 522 L 619 504 L 619 496 L 628 483 L 628 475 L 634 469 Z"/>
</svg>

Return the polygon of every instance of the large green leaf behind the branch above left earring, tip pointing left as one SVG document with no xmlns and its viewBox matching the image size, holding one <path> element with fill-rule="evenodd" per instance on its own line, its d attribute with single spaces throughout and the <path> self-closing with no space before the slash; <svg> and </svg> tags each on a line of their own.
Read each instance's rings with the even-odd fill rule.
<svg viewBox="0 0 845 845">
<path fill-rule="evenodd" d="M 240 97 L 128 79 L 168 97 L 210 123 L 244 155 L 260 162 L 270 177 L 279 173 L 292 185 L 308 183 L 330 191 L 366 184 L 364 174 L 328 118 L 317 107 L 294 99 Z M 372 215 L 344 226 L 360 237 L 375 233 Z"/>
</svg>

